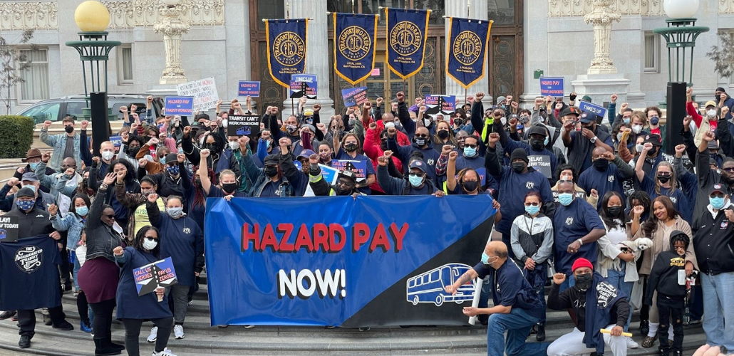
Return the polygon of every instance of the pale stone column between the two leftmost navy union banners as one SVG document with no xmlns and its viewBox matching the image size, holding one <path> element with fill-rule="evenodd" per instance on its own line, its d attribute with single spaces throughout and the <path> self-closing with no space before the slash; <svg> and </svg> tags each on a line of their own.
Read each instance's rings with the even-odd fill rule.
<svg viewBox="0 0 734 356">
<path fill-rule="evenodd" d="M 306 43 L 306 74 L 316 74 L 319 80 L 317 99 L 308 100 L 307 106 L 321 105 L 321 123 L 328 124 L 334 115 L 334 101 L 329 90 L 329 34 L 327 29 L 327 0 L 283 0 L 286 7 L 290 4 L 290 18 L 313 18 L 308 21 L 308 42 Z M 295 108 L 298 109 L 298 101 Z M 291 115 L 291 99 L 283 101 L 283 116 Z"/>
</svg>

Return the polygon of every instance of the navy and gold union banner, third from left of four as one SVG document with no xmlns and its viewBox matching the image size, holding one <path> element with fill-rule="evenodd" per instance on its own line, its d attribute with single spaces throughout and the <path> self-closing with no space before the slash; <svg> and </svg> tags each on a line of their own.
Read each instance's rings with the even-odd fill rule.
<svg viewBox="0 0 734 356">
<path fill-rule="evenodd" d="M 385 9 L 388 67 L 402 79 L 423 68 L 430 10 Z"/>
</svg>

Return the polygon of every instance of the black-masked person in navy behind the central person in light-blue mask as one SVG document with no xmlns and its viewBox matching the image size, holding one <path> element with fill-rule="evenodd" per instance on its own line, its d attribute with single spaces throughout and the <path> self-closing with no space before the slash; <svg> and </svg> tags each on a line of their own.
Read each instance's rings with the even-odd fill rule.
<svg viewBox="0 0 734 356">
<path fill-rule="evenodd" d="M 400 106 L 398 108 L 400 109 Z M 413 152 L 417 150 L 423 154 L 423 161 L 427 166 L 427 178 L 437 185 L 436 164 L 441 154 L 433 148 L 433 142 L 428 128 L 423 126 L 416 128 L 413 145 L 410 146 L 399 146 L 396 137 L 397 133 L 396 128 L 388 128 L 388 150 L 393 151 L 395 156 L 403 162 L 403 170 L 410 170 L 410 156 L 413 156 Z"/>
</svg>

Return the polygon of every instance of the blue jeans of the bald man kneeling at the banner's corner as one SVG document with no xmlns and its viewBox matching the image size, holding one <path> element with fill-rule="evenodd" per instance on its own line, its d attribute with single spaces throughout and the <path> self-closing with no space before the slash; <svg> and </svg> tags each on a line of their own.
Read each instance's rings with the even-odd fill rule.
<svg viewBox="0 0 734 356">
<path fill-rule="evenodd" d="M 487 356 L 545 356 L 551 343 L 526 343 L 525 339 L 538 318 L 525 310 L 512 308 L 507 314 L 490 315 L 487 325 Z M 505 331 L 507 338 L 504 337 Z"/>
</svg>

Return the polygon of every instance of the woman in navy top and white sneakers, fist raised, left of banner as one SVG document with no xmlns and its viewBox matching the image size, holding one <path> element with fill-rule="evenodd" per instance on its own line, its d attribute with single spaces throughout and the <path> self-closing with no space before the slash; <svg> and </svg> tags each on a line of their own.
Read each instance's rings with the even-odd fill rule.
<svg viewBox="0 0 734 356">
<path fill-rule="evenodd" d="M 169 195 L 166 213 L 161 214 L 156 200 L 158 195 L 148 195 L 148 217 L 150 223 L 161 230 L 161 258 L 170 257 L 176 270 L 178 284 L 170 288 L 173 298 L 175 338 L 183 338 L 183 321 L 189 306 L 189 288 L 194 286 L 195 277 L 204 267 L 204 234 L 194 219 L 183 213 L 181 197 Z M 148 342 L 156 340 L 156 327 L 150 330 Z"/>
</svg>

